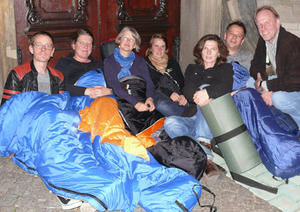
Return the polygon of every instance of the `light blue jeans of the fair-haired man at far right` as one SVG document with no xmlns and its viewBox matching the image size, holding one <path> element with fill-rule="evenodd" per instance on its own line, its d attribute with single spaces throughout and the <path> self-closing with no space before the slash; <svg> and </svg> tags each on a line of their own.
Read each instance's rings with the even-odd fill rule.
<svg viewBox="0 0 300 212">
<path fill-rule="evenodd" d="M 274 78 L 272 76 L 269 79 Z M 250 77 L 247 82 L 247 87 L 255 89 L 254 78 Z M 289 114 L 294 121 L 297 123 L 298 128 L 300 128 L 300 91 L 286 92 L 286 91 L 276 91 L 272 95 L 273 106 L 276 107 L 283 113 Z"/>
</svg>

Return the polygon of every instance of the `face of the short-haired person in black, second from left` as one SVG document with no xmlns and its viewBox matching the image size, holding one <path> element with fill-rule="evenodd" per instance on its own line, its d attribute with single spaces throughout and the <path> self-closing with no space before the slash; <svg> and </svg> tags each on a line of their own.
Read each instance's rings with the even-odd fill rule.
<svg viewBox="0 0 300 212">
<path fill-rule="evenodd" d="M 93 50 L 93 38 L 90 35 L 79 35 L 77 41 L 72 44 L 74 58 L 79 62 L 88 61 Z"/>
</svg>

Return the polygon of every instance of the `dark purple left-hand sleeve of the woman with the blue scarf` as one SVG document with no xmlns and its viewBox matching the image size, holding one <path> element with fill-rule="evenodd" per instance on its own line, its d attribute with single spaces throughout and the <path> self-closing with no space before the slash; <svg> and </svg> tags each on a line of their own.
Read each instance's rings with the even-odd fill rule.
<svg viewBox="0 0 300 212">
<path fill-rule="evenodd" d="M 118 64 L 114 62 L 112 56 L 104 60 L 104 77 L 107 83 L 107 87 L 111 88 L 116 96 L 125 99 L 134 106 L 138 103 L 138 101 L 133 96 L 130 96 L 127 91 L 121 87 L 121 83 L 119 82 L 117 76 L 118 72 L 120 71 L 120 67 L 118 67 L 117 65 Z"/>
</svg>

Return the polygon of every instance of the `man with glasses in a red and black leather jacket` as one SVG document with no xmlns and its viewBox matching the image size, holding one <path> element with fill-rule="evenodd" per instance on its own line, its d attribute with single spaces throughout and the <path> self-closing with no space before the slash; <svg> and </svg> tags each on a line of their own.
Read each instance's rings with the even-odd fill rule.
<svg viewBox="0 0 300 212">
<path fill-rule="evenodd" d="M 26 92 L 40 91 L 48 94 L 64 92 L 64 76 L 48 66 L 55 48 L 53 37 L 45 31 L 36 32 L 29 40 L 32 61 L 11 70 L 3 89 L 1 105 L 11 96 Z"/>
</svg>

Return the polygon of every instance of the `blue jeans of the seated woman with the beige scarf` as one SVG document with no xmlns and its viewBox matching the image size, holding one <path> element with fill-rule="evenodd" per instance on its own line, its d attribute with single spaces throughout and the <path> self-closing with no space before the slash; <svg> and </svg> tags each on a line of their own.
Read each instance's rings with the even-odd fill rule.
<svg viewBox="0 0 300 212">
<path fill-rule="evenodd" d="M 166 96 L 161 91 L 155 91 L 154 104 L 156 110 L 166 117 L 180 116 L 187 107 L 187 105 L 180 106 L 177 102 L 173 102 L 170 97 Z"/>
</svg>

